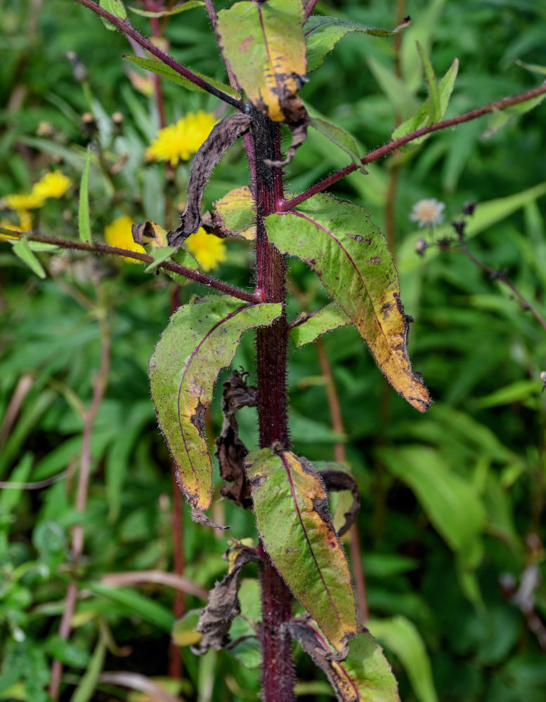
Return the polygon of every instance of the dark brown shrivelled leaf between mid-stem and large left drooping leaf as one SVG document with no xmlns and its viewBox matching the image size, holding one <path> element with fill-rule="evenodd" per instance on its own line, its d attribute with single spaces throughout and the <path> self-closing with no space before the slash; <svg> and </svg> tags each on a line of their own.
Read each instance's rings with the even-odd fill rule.
<svg viewBox="0 0 546 702">
<path fill-rule="evenodd" d="M 245 473 L 245 456 L 248 449 L 238 436 L 239 425 L 235 413 L 241 407 L 256 406 L 256 390 L 254 385 L 247 385 L 245 376 L 248 373 L 233 371 L 223 383 L 222 412 L 223 423 L 219 437 L 216 439 L 216 453 L 220 467 L 220 475 L 233 485 L 223 485 L 220 494 L 227 500 L 249 508 L 250 486 Z"/>
</svg>

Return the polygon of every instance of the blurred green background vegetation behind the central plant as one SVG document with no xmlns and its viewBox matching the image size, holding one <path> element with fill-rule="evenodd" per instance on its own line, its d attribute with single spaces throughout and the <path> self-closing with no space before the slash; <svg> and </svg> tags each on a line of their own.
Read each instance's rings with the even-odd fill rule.
<svg viewBox="0 0 546 702">
<path fill-rule="evenodd" d="M 412 16 L 400 41 L 350 34 L 302 90 L 315 110 L 355 135 L 363 152 L 388 140 L 426 98 L 416 40 L 437 77 L 460 60 L 448 116 L 545 77 L 546 8 L 536 0 L 340 0 L 317 9 L 379 27 Z M 0 198 L 31 192 L 44 173 L 61 171 L 72 187 L 32 210 L 32 226 L 77 239 L 77 184 L 93 143 L 93 237 L 103 240 L 120 216 L 176 225 L 189 161 L 169 168 L 148 162 L 145 150 L 161 119 L 173 124 L 189 111 L 212 112 L 218 101 L 163 83 L 158 110 L 152 81 L 122 60 L 132 53 L 126 39 L 82 6 L 4 0 L 1 10 Z M 155 20 L 130 18 L 152 32 Z M 167 19 L 158 24 L 171 55 L 224 80 L 203 8 Z M 483 138 L 486 119 L 438 133 L 333 189 L 368 208 L 394 247 L 405 311 L 415 318 L 410 355 L 435 400 L 426 415 L 386 385 L 352 327 L 292 349 L 294 450 L 311 461 L 344 456 L 358 482 L 361 562 L 353 567 L 365 574 L 360 607 L 370 611 L 370 630 L 394 666 L 404 702 L 545 698 L 546 331 L 500 281 L 467 256 L 434 246 L 453 235 L 449 222 L 460 218 L 463 204 L 477 201 L 469 249 L 493 270 L 506 268 L 544 315 L 545 110 L 539 106 L 490 138 Z M 343 152 L 310 131 L 287 167 L 288 185 L 299 192 L 346 163 Z M 245 183 L 238 144 L 214 171 L 205 206 Z M 417 232 L 409 220 L 423 198 L 446 204 L 446 224 L 434 231 Z M 15 215 L 5 206 L 0 216 L 16 226 Z M 421 237 L 433 244 L 422 257 L 415 253 Z M 252 247 L 228 241 L 226 252 L 214 275 L 252 286 Z M 185 507 L 178 528 L 181 498 L 147 378 L 172 306 L 206 291 L 191 285 L 176 292 L 164 274 L 141 265 L 62 251 L 37 256 L 44 279 L 8 241 L 0 243 L 0 698 L 47 700 L 56 659 L 63 663 L 60 698 L 76 702 L 157 699 L 146 689 L 150 679 L 188 701 L 258 699 L 255 657 L 245 668 L 225 651 L 196 658 L 182 647 L 181 662 L 169 643 L 183 607 L 202 606 L 196 594 L 181 597 L 151 576 L 123 586 L 112 576 L 176 571 L 200 592 L 226 571 L 225 538 L 196 527 Z M 325 303 L 318 279 L 295 260 L 290 289 L 292 317 Z M 252 359 L 247 335 L 233 367 L 250 370 L 251 381 Z M 207 418 L 211 444 L 221 426 L 217 395 Z M 334 395 L 341 423 L 332 423 Z M 252 446 L 253 410 L 240 412 L 240 425 Z M 84 510 L 76 501 L 82 435 L 91 442 Z M 255 538 L 252 514 L 226 501 L 216 501 L 213 512 L 231 525 L 231 536 Z M 84 534 L 75 560 L 74 527 Z M 77 603 L 63 640 L 60 616 L 74 582 Z M 322 673 L 296 655 L 301 699 L 329 699 Z"/>
</svg>

